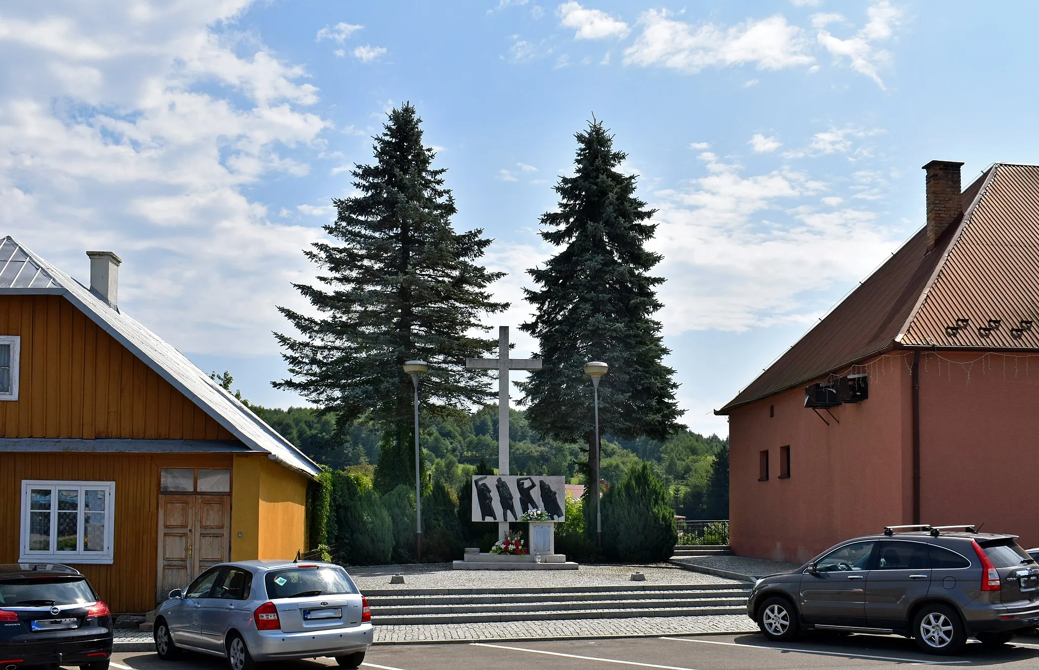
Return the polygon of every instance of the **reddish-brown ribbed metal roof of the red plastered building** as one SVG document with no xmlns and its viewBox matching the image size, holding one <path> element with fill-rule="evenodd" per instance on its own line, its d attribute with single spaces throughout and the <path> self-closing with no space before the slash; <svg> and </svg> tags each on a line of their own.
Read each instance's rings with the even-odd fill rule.
<svg viewBox="0 0 1039 670">
<path fill-rule="evenodd" d="M 992 165 L 963 210 L 933 249 L 916 233 L 717 413 L 895 348 L 1039 349 L 1039 166 Z"/>
</svg>

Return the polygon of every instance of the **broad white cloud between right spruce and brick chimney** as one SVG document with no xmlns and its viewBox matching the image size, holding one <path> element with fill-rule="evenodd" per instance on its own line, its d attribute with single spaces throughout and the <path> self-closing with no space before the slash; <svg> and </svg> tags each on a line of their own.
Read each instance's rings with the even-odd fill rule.
<svg viewBox="0 0 1039 670">
<path fill-rule="evenodd" d="M 657 273 L 667 277 L 659 296 L 665 334 L 810 322 L 829 306 L 819 292 L 861 279 L 899 245 L 873 212 L 804 204 L 827 188 L 804 173 L 707 167 L 652 203 L 659 227 L 649 246 L 664 256 Z"/>
</svg>

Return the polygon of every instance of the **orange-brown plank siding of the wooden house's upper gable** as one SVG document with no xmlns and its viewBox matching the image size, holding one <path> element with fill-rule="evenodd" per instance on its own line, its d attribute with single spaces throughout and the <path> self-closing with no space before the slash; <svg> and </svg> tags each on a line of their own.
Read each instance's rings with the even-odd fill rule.
<svg viewBox="0 0 1039 670">
<path fill-rule="evenodd" d="M 0 296 L 0 334 L 22 338 L 3 437 L 235 439 L 61 296 Z"/>
</svg>

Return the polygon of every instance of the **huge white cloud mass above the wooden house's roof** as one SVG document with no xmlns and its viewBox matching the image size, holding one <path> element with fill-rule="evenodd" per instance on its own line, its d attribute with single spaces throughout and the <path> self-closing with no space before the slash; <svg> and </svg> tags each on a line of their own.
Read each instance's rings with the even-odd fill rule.
<svg viewBox="0 0 1039 670">
<path fill-rule="evenodd" d="M 305 307 L 290 282 L 311 280 L 300 250 L 323 237 L 252 199 L 305 173 L 330 124 L 307 109 L 303 68 L 234 31 L 249 4 L 0 17 L 0 58 L 19 64 L 0 74 L 0 227 L 81 278 L 84 249 L 114 249 L 121 306 L 191 353 L 275 353 L 275 305 Z"/>
</svg>

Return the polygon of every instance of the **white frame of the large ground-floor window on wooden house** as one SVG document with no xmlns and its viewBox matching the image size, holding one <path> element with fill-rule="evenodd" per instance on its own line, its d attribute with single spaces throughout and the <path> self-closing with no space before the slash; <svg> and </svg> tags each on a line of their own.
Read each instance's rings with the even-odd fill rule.
<svg viewBox="0 0 1039 670">
<path fill-rule="evenodd" d="M 51 489 L 51 547 L 54 550 L 30 551 L 29 550 L 29 511 L 30 493 L 33 488 Z M 79 490 L 79 509 L 77 510 L 76 524 L 76 548 L 75 552 L 58 552 L 57 546 L 57 491 L 59 489 Z M 84 522 L 84 491 L 103 490 L 105 491 L 105 550 L 103 552 L 83 551 L 83 522 Z M 22 480 L 22 531 L 19 545 L 19 562 L 48 561 L 54 563 L 76 564 L 101 564 L 111 565 L 114 560 L 114 521 L 115 521 L 115 482 L 86 482 L 86 481 L 63 481 L 63 480 Z"/>
</svg>

